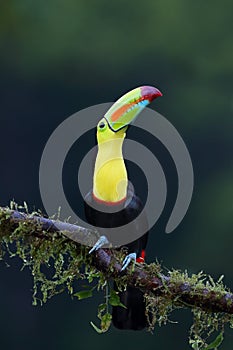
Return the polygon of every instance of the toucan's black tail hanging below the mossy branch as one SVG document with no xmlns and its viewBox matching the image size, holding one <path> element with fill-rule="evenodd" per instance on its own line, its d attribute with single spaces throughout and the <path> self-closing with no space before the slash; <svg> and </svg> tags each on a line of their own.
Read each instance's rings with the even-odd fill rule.
<svg viewBox="0 0 233 350">
<path fill-rule="evenodd" d="M 113 306 L 112 322 L 119 329 L 141 330 L 147 326 L 143 293 L 134 287 L 119 292 L 120 301 L 126 306 Z"/>
</svg>

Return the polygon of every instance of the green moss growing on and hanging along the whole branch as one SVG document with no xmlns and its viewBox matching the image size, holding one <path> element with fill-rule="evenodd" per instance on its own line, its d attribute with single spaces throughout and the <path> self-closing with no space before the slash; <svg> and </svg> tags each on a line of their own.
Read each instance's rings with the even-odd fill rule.
<svg viewBox="0 0 233 350">
<path fill-rule="evenodd" d="M 27 206 L 24 204 L 27 212 Z M 93 265 L 93 256 L 88 254 L 88 247 L 81 246 L 68 239 L 62 232 L 49 233 L 43 230 L 41 225 L 35 221 L 25 220 L 18 223 L 11 220 L 11 210 L 18 209 L 14 203 L 11 208 L 0 208 L 0 259 L 5 254 L 12 257 L 19 257 L 22 260 L 22 268 L 28 267 L 33 276 L 33 305 L 43 304 L 49 298 L 62 292 L 68 292 L 72 297 L 83 299 L 95 295 L 95 291 L 105 291 L 104 303 L 98 307 L 100 328 L 93 327 L 100 333 L 106 332 L 111 325 L 109 305 L 119 301 L 116 291 L 109 289 L 109 279 L 112 277 L 114 263 L 122 261 L 125 256 L 124 249 L 114 252 L 113 259 L 107 272 L 98 271 Z M 33 213 L 40 215 L 40 213 Z M 158 262 L 150 265 L 140 264 L 138 267 L 160 281 L 162 268 Z M 134 273 L 134 266 L 131 265 L 127 275 L 119 276 L 114 272 L 114 281 L 119 291 L 125 290 L 128 277 Z M 153 331 L 156 325 L 166 325 L 174 309 L 190 307 L 181 301 L 182 294 L 189 293 L 190 297 L 202 296 L 203 290 L 206 297 L 215 293 L 215 300 L 221 299 L 228 290 L 223 285 L 223 276 L 217 282 L 203 272 L 189 276 L 187 271 L 182 272 L 173 269 L 167 272 L 169 285 L 164 282 L 163 294 L 155 296 L 152 292 L 145 293 L 146 315 L 148 319 L 148 330 Z M 90 285 L 86 291 L 77 290 L 77 281 L 86 280 Z M 144 287 L 142 281 L 138 286 Z M 94 287 L 93 287 L 94 285 Z M 188 291 L 187 287 L 188 286 Z M 81 296 L 81 297 L 80 297 Z M 229 300 L 229 303 L 232 301 Z M 224 327 L 228 323 L 233 328 L 231 315 L 203 311 L 201 305 L 192 303 L 193 325 L 190 330 L 189 344 L 193 349 L 217 349 L 222 341 Z M 122 306 L 124 307 L 124 306 Z M 208 345 L 208 339 L 217 337 Z"/>
</svg>

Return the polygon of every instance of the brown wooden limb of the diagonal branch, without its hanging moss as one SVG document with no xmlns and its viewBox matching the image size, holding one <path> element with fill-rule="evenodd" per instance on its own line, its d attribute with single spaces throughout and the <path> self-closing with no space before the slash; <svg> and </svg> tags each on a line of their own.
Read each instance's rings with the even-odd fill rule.
<svg viewBox="0 0 233 350">
<path fill-rule="evenodd" d="M 17 210 L 10 211 L 8 208 L 1 208 L 1 216 L 3 214 L 6 214 L 8 217 L 8 227 L 6 221 L 1 220 L 0 237 L 2 231 L 5 232 L 8 228 L 12 231 L 12 229 L 18 227 L 19 223 L 24 223 L 34 225 L 33 230 L 29 234 L 37 238 L 41 237 L 41 239 L 45 238 L 44 230 L 47 233 L 62 232 L 66 237 L 76 242 L 84 241 L 84 238 L 87 240 L 88 237 L 94 243 L 98 238 L 96 231 L 68 222 L 52 220 L 38 215 L 28 215 Z M 4 229 L 2 227 L 3 223 Z M 180 278 L 178 276 L 174 278 L 172 273 L 170 276 L 165 276 L 160 271 L 156 271 L 156 269 L 153 273 L 153 269 L 148 268 L 150 265 L 146 264 L 137 264 L 133 272 L 122 273 L 121 263 L 116 259 L 116 251 L 109 249 L 99 249 L 94 253 L 92 264 L 99 271 L 106 274 L 108 278 L 114 279 L 117 276 L 124 276 L 127 284 L 137 286 L 142 291 L 151 292 L 155 296 L 168 297 L 169 295 L 169 298 L 176 303 L 184 303 L 190 307 L 198 306 L 206 311 L 233 314 L 233 294 L 221 290 L 222 288 L 216 289 L 216 284 L 213 281 L 211 281 L 212 285 L 211 283 L 204 285 L 194 283 L 193 279 L 187 275 L 185 276 L 185 274 L 182 275 L 182 278 L 181 275 Z"/>
</svg>

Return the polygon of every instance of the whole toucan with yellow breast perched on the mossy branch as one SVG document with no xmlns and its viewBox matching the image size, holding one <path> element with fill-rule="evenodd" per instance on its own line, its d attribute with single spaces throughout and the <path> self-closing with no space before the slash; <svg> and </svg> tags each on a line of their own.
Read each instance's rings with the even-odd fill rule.
<svg viewBox="0 0 233 350">
<path fill-rule="evenodd" d="M 118 99 L 97 125 L 98 153 L 95 160 L 93 188 L 85 197 L 86 220 L 93 226 L 102 227 L 104 234 L 90 253 L 109 243 L 107 232 L 133 222 L 133 233 L 145 227 L 146 216 L 134 220 L 142 212 L 143 205 L 129 186 L 122 145 L 129 125 L 136 116 L 162 93 L 153 86 L 137 87 Z M 112 210 L 114 209 L 114 211 Z M 148 231 L 128 242 L 128 250 L 122 265 L 124 271 L 131 261 L 144 262 Z M 111 243 L 111 242 L 110 242 Z M 116 288 L 116 286 L 114 286 Z M 113 306 L 112 322 L 118 329 L 141 330 L 147 326 L 143 293 L 128 286 L 119 292 L 125 306 Z"/>
</svg>

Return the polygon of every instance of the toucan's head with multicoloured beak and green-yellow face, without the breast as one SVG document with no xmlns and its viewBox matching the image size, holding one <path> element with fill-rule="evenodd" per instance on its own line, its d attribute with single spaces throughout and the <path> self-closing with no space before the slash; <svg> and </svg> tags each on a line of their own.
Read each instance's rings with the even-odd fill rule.
<svg viewBox="0 0 233 350">
<path fill-rule="evenodd" d="M 97 125 L 98 144 L 124 138 L 128 126 L 137 115 L 162 93 L 153 86 L 141 86 L 117 100 Z"/>
</svg>

